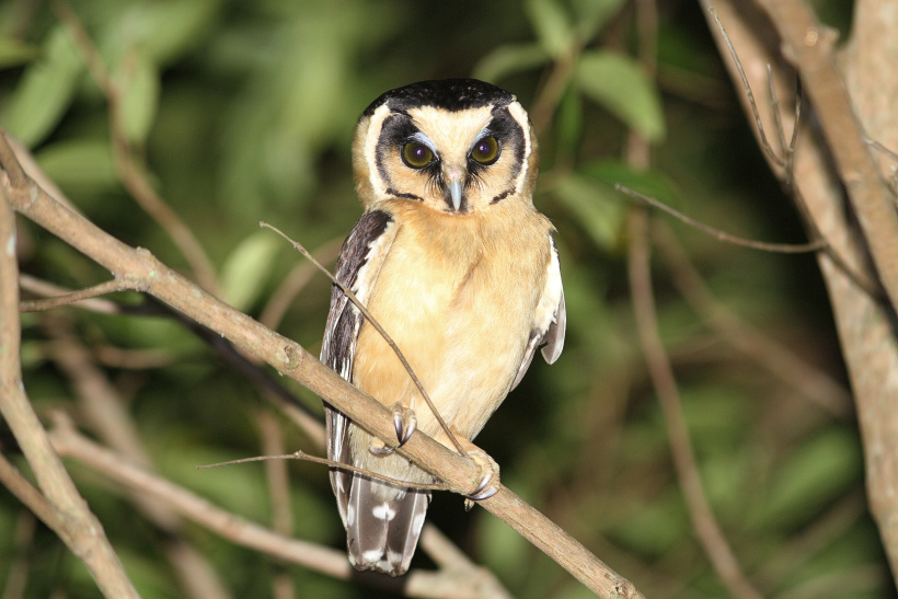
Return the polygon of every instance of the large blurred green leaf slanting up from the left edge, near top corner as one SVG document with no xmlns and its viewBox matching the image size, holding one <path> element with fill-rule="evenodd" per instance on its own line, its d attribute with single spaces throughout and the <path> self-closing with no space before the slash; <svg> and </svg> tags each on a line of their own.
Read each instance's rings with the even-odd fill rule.
<svg viewBox="0 0 898 599">
<path fill-rule="evenodd" d="M 34 147 L 59 123 L 74 96 L 83 64 L 69 35 L 54 28 L 44 58 L 28 66 L 0 120 L 27 147 Z"/>
</svg>

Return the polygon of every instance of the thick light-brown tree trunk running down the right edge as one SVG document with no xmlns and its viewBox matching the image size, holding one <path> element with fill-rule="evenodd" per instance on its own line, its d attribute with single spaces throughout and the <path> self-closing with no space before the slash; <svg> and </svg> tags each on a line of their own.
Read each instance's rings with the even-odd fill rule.
<svg viewBox="0 0 898 599">
<path fill-rule="evenodd" d="M 709 0 L 703 4 L 709 8 Z M 898 234 L 888 182 L 895 164 L 884 153 L 876 155 L 865 140 L 870 136 L 891 150 L 898 148 L 898 10 L 889 0 L 857 0 L 850 41 L 836 51 L 836 34 L 802 0 L 732 0 L 714 7 L 753 90 L 768 139 L 775 139 L 776 129 L 765 92 L 767 66 L 773 71 L 786 136 L 794 114 L 783 108 L 801 78 L 805 111 L 813 116 L 803 116 L 799 123 L 792 172 L 768 155 L 771 168 L 784 182 L 793 177 L 790 191 L 808 230 L 819 231 L 849 269 L 884 289 L 883 297 L 873 297 L 831 253 L 819 253 L 855 398 L 870 506 L 893 575 L 898 576 Z M 710 15 L 709 22 L 741 90 L 742 81 Z M 747 94 L 744 104 L 751 115 Z M 783 148 L 774 152 L 785 155 Z"/>
</svg>

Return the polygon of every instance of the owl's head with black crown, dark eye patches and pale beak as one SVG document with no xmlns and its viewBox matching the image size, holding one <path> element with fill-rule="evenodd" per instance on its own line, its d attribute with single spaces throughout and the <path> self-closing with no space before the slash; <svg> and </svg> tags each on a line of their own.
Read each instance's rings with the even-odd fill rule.
<svg viewBox="0 0 898 599">
<path fill-rule="evenodd" d="M 389 91 L 362 113 L 353 142 L 365 208 L 407 199 L 450 215 L 532 204 L 539 153 L 510 93 L 474 79 Z"/>
</svg>

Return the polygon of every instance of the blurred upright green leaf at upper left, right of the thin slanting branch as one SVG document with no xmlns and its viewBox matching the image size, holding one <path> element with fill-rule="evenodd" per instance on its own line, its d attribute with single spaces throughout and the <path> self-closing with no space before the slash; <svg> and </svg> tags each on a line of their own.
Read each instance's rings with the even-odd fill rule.
<svg viewBox="0 0 898 599">
<path fill-rule="evenodd" d="M 159 103 L 159 72 L 142 53 L 133 51 L 122 61 L 116 79 L 123 90 L 122 125 L 131 142 L 147 139 Z"/>
</svg>

